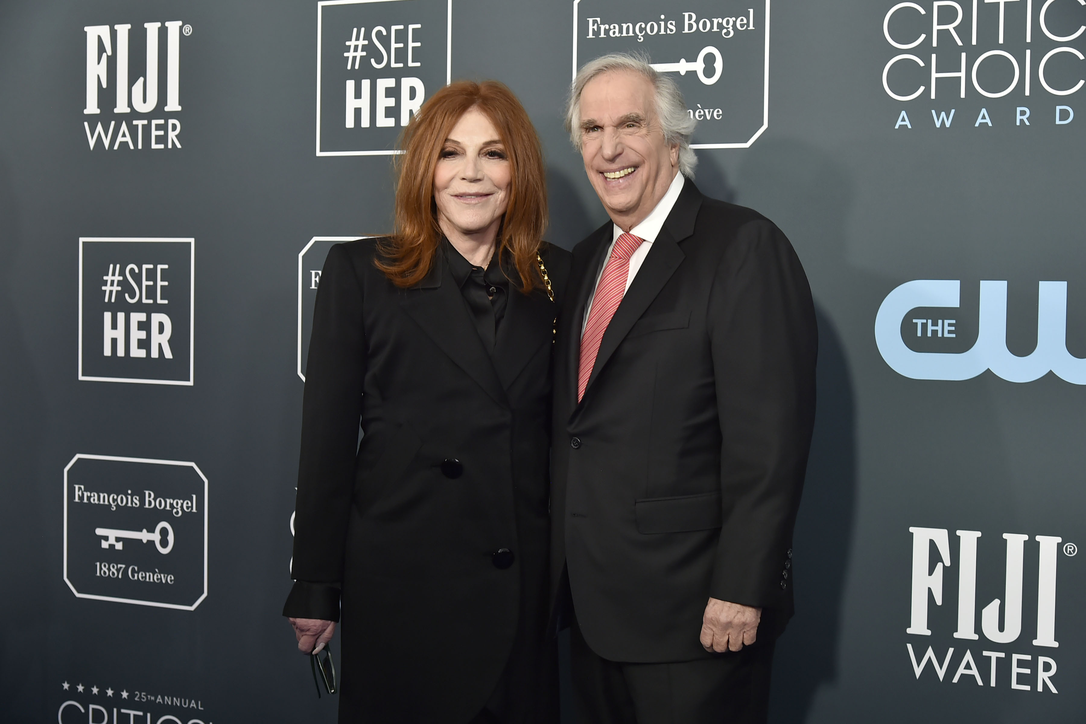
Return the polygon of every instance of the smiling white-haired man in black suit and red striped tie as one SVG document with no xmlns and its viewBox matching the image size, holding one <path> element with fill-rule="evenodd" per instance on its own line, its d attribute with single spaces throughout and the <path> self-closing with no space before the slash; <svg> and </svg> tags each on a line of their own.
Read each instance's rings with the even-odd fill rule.
<svg viewBox="0 0 1086 724">
<path fill-rule="evenodd" d="M 611 221 L 573 250 L 552 583 L 584 724 L 762 722 L 792 614 L 818 332 L 788 240 L 691 180 L 675 84 L 630 55 L 566 116 Z"/>
</svg>

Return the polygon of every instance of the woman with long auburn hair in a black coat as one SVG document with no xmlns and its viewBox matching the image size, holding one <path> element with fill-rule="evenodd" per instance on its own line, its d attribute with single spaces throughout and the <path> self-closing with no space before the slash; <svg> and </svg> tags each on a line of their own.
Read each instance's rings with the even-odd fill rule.
<svg viewBox="0 0 1086 724">
<path fill-rule="evenodd" d="M 547 410 L 570 255 L 541 241 L 543 154 L 505 86 L 439 90 L 403 145 L 395 232 L 337 244 L 321 274 L 283 615 L 308 653 L 342 611 L 340 722 L 554 721 Z"/>
</svg>

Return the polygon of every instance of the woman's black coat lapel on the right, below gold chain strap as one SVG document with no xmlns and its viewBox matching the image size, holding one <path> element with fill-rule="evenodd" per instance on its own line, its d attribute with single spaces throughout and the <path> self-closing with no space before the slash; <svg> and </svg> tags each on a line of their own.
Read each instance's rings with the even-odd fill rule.
<svg viewBox="0 0 1086 724">
<path fill-rule="evenodd" d="M 509 282 L 509 299 L 505 319 L 497 328 L 494 344 L 494 368 L 505 390 L 508 390 L 539 348 L 554 335 L 555 306 L 546 292 L 535 289 L 522 294 Z"/>
</svg>

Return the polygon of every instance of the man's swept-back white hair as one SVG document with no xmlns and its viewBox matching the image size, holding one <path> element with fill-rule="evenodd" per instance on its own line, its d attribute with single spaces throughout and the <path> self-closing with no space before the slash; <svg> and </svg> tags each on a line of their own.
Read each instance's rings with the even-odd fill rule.
<svg viewBox="0 0 1086 724">
<path fill-rule="evenodd" d="M 593 78 L 614 71 L 631 71 L 645 76 L 653 84 L 656 99 L 656 117 L 659 118 L 664 140 L 671 145 L 679 144 L 679 170 L 686 178 L 694 178 L 697 156 L 690 148 L 690 138 L 697 125 L 686 110 L 679 84 L 656 72 L 648 63 L 648 58 L 632 53 L 610 53 L 585 63 L 577 77 L 566 103 L 566 130 L 578 151 L 581 150 L 581 93 Z"/>
</svg>

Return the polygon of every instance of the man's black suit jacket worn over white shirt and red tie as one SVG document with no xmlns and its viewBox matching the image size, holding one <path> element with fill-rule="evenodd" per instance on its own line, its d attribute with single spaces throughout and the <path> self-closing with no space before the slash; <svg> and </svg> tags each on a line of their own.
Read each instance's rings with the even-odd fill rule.
<svg viewBox="0 0 1086 724">
<path fill-rule="evenodd" d="M 577 402 L 581 326 L 610 223 L 573 250 L 558 325 L 552 586 L 615 661 L 709 656 L 709 597 L 792 613 L 792 530 L 818 330 L 799 259 L 756 212 L 692 181 L 604 334 Z"/>
</svg>

